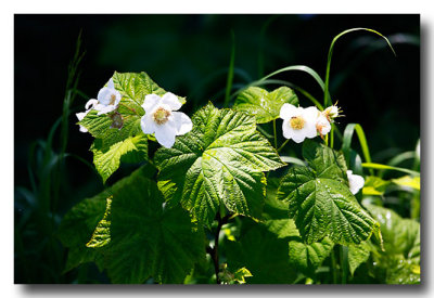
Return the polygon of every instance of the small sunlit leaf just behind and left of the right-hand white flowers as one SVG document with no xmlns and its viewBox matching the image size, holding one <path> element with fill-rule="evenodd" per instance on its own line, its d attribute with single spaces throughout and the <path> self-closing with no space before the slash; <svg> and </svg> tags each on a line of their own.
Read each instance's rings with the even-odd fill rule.
<svg viewBox="0 0 434 298">
<path fill-rule="evenodd" d="M 266 124 L 279 118 L 284 103 L 298 104 L 297 95 L 291 88 L 280 87 L 268 92 L 259 87 L 250 87 L 238 95 L 233 108 L 255 116 L 258 124 Z"/>
</svg>

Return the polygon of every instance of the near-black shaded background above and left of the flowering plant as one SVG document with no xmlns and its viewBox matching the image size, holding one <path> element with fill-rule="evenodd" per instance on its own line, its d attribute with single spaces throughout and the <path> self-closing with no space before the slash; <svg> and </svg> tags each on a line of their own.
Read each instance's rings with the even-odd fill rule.
<svg viewBox="0 0 434 298">
<path fill-rule="evenodd" d="M 419 15 L 15 15 L 15 283 L 107 282 L 92 264 L 61 274 L 66 255 L 55 239 L 62 216 L 103 189 L 100 178 L 84 163 L 66 159 L 61 200 L 49 215 L 38 211 L 40 194 L 29 181 L 29 168 L 37 171 L 35 160 L 43 155 L 35 150 L 29 158 L 29 148 L 47 139 L 62 115 L 67 65 L 80 30 L 86 54 L 78 89 L 86 98 L 95 98 L 114 70 L 146 72 L 165 90 L 187 96 L 183 112 L 192 115 L 208 101 L 217 106 L 224 102 L 231 30 L 238 89 L 289 65 L 307 65 L 323 76 L 333 37 L 353 27 L 387 36 L 397 53 L 373 34 L 353 33 L 337 41 L 331 67 L 332 99 L 345 114 L 341 129 L 360 124 L 373 160 L 384 163 L 413 150 L 420 138 Z M 322 102 L 320 88 L 307 74 L 276 78 Z M 302 95 L 299 100 L 302 106 L 311 105 Z M 74 113 L 84 111 L 86 101 L 78 96 Z M 91 163 L 92 138 L 78 131 L 74 116 L 69 122 L 66 151 Z M 59 142 L 55 137 L 54 152 Z M 108 184 L 129 171 L 123 166 Z"/>
</svg>

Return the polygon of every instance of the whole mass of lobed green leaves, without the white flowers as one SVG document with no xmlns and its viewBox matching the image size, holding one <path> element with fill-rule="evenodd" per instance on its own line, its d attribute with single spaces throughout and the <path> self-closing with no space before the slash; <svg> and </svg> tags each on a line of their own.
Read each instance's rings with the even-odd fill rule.
<svg viewBox="0 0 434 298">
<path fill-rule="evenodd" d="M 64 217 L 65 272 L 92 261 L 113 283 L 299 283 L 335 270 L 335 250 L 345 248 L 352 274 L 373 258 L 379 265 L 371 272 L 381 271 L 387 283 L 418 281 L 419 236 L 409 237 L 419 224 L 397 234 L 388 221 L 407 229 L 406 220 L 384 217 L 392 211 L 381 207 L 365 209 L 348 189 L 343 153 L 306 141 L 305 161 L 272 177 L 288 165 L 257 124 L 275 121 L 284 103 L 297 104 L 292 89 L 251 87 L 233 108 L 208 103 L 192 116 L 192 131 L 149 158 L 154 139 L 140 129 L 141 104 L 146 94 L 166 91 L 144 73 L 115 73 L 113 80 L 118 111 L 90 112 L 79 125 L 95 138 L 91 151 L 104 182 L 120 163 L 140 168 Z M 225 226 L 222 218 L 230 219 Z M 214 272 L 219 255 L 226 263 Z M 399 269 L 391 271 L 392 263 Z"/>
</svg>

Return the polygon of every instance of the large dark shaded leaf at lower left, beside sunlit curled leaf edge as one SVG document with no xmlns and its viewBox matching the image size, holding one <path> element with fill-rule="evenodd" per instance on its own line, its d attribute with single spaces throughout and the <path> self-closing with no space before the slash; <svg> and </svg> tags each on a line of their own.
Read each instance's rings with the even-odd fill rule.
<svg viewBox="0 0 434 298">
<path fill-rule="evenodd" d="M 155 182 L 136 176 L 113 187 L 112 241 L 106 256 L 113 283 L 182 283 L 205 256 L 205 237 L 180 207 L 166 208 Z"/>
</svg>

